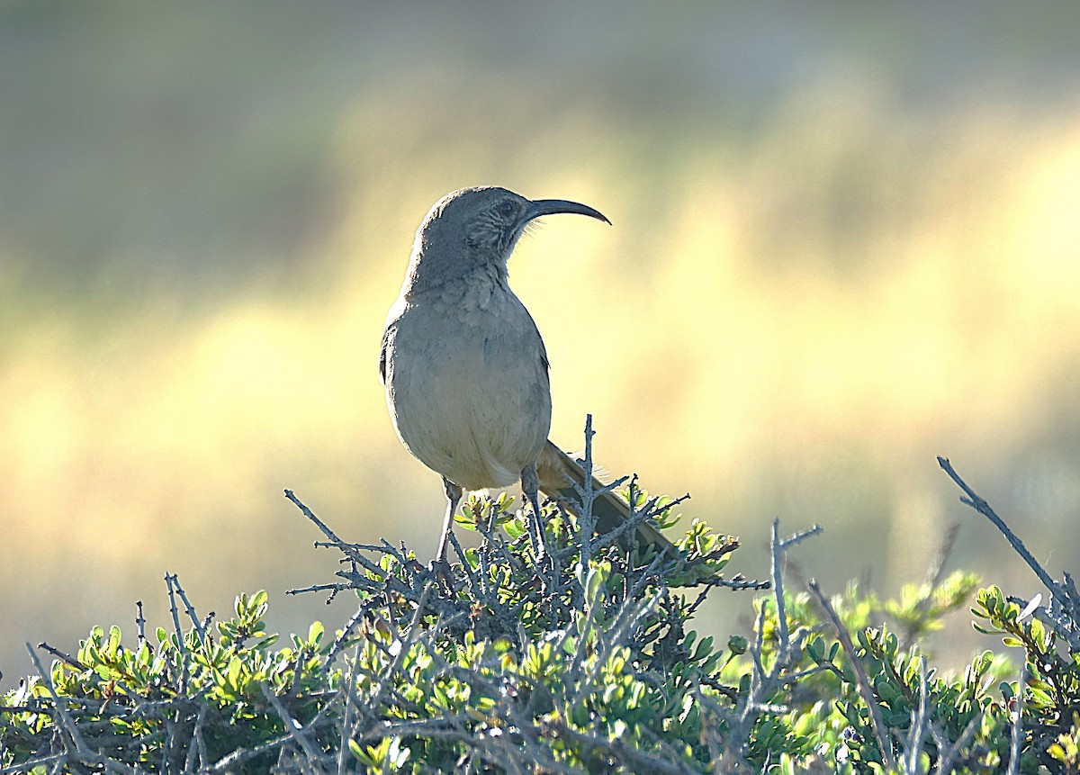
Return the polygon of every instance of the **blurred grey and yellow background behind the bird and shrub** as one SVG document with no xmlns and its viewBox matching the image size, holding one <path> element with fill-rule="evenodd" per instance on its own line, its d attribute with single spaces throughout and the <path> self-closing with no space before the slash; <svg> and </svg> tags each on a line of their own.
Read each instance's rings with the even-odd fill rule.
<svg viewBox="0 0 1080 775">
<path fill-rule="evenodd" d="M 432 555 L 438 477 L 376 362 L 455 188 L 566 198 L 514 288 L 552 437 L 689 491 L 768 573 L 882 594 L 950 567 L 1032 595 L 958 472 L 1058 575 L 1080 513 L 1080 5 L 0 5 L 0 670 L 25 641 L 284 590 L 346 540 Z M 750 595 L 701 629 L 744 631 Z M 995 641 L 961 612 L 959 666 Z"/>
</svg>

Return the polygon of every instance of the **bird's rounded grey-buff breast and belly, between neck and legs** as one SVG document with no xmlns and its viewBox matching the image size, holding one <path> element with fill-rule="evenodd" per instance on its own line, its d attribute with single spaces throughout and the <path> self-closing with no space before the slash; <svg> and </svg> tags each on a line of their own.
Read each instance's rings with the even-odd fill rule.
<svg viewBox="0 0 1080 775">
<path fill-rule="evenodd" d="M 543 342 L 508 288 L 441 289 L 388 328 L 387 399 L 402 441 L 467 489 L 504 487 L 551 425 Z"/>
</svg>

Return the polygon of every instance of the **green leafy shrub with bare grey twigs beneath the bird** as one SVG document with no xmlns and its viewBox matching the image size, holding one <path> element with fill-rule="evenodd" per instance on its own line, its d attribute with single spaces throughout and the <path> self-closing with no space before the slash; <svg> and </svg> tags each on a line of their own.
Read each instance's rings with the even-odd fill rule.
<svg viewBox="0 0 1080 775">
<path fill-rule="evenodd" d="M 671 502 L 629 495 L 634 519 L 676 521 Z M 282 644 L 265 593 L 200 620 L 166 576 L 172 626 L 42 647 L 51 667 L 0 708 L 2 771 L 974 774 L 1018 751 L 1021 773 L 1077 772 L 1077 654 L 1036 607 L 989 587 L 972 609 L 1023 650 L 1023 693 L 991 651 L 946 676 L 921 650 L 970 604 L 971 574 L 820 602 L 774 570 L 752 637 L 718 640 L 689 628 L 704 596 L 765 585 L 725 577 L 738 541 L 699 521 L 673 560 L 585 541 L 549 504 L 551 559 L 536 563 L 512 500 L 474 499 L 459 525 L 480 546 L 429 569 L 404 547 L 345 544 L 296 503 L 343 558 L 311 589 L 357 599 L 333 638 L 315 623 Z"/>
</svg>

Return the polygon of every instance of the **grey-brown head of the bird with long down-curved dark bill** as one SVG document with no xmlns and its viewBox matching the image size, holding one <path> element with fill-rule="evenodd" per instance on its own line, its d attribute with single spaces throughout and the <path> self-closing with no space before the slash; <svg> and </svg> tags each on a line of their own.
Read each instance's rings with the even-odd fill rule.
<svg viewBox="0 0 1080 775">
<path fill-rule="evenodd" d="M 432 206 L 416 232 L 409 278 L 434 286 L 490 267 L 505 274 L 514 245 L 536 218 L 577 213 L 610 223 L 598 210 L 567 200 L 527 200 L 494 186 L 461 189 Z"/>
</svg>

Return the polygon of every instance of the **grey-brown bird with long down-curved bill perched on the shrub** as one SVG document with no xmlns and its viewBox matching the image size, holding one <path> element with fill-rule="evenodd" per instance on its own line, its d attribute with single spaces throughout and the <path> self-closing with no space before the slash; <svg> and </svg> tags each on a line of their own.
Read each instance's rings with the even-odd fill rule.
<svg viewBox="0 0 1080 775">
<path fill-rule="evenodd" d="M 390 417 L 405 448 L 442 476 L 446 494 L 434 563 L 446 562 L 464 491 L 518 480 L 532 512 L 532 554 L 542 561 L 548 549 L 539 490 L 572 501 L 571 481 L 584 480 L 581 467 L 548 439 L 548 352 L 509 284 L 508 261 L 518 240 L 537 218 L 556 214 L 611 222 L 569 200 L 528 200 L 495 186 L 451 191 L 417 229 L 401 293 L 387 315 L 379 376 Z M 602 530 L 617 527 L 630 511 L 612 493 L 595 504 Z M 645 522 L 638 535 L 671 546 Z"/>
</svg>

